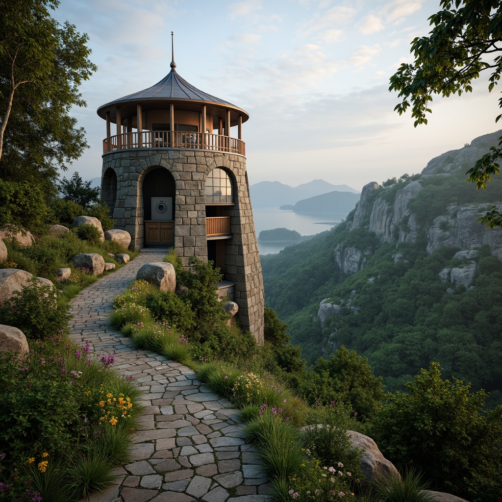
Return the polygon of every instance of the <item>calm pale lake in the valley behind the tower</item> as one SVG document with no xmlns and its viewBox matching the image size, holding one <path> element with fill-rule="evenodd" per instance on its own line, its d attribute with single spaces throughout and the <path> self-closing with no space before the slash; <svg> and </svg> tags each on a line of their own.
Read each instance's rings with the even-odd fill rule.
<svg viewBox="0 0 502 502">
<path fill-rule="evenodd" d="M 293 211 L 282 211 L 278 207 L 257 207 L 253 208 L 253 216 L 258 238 L 262 230 L 274 228 L 287 228 L 288 230 L 296 230 L 301 235 L 314 235 L 333 228 L 347 214 L 298 214 Z M 258 241 L 260 255 L 279 253 L 287 245 L 291 245 L 291 243 Z"/>
</svg>

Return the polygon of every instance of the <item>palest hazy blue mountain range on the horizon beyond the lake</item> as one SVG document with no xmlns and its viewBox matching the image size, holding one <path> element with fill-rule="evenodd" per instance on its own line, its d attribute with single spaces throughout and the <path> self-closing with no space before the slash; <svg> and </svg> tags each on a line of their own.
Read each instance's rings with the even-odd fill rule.
<svg viewBox="0 0 502 502">
<path fill-rule="evenodd" d="M 279 181 L 261 181 L 249 187 L 253 207 L 279 207 L 284 204 L 294 205 L 299 200 L 333 191 L 359 193 L 347 185 L 332 185 L 324 180 L 313 180 L 297 187 L 284 185 Z"/>
</svg>

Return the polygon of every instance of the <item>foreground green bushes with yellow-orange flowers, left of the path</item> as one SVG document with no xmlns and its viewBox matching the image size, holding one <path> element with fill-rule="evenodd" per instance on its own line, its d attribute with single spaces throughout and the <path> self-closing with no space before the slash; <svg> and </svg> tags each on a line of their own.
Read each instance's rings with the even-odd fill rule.
<svg viewBox="0 0 502 502">
<path fill-rule="evenodd" d="M 113 479 L 115 463 L 128 458 L 141 408 L 139 389 L 112 362 L 112 355 L 98 360 L 88 344 L 78 347 L 57 334 L 34 343 L 27 358 L 0 352 L 5 496 L 79 499 Z"/>
</svg>

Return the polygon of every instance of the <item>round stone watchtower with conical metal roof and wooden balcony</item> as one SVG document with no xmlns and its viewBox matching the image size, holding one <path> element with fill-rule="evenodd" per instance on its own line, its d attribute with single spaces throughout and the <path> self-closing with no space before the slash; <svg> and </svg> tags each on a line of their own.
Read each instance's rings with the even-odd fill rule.
<svg viewBox="0 0 502 502">
<path fill-rule="evenodd" d="M 220 294 L 263 342 L 262 268 L 241 140 L 249 115 L 181 78 L 174 51 L 160 82 L 97 113 L 106 119 L 101 196 L 116 227 L 135 248 L 174 247 L 185 266 L 192 256 L 212 260 L 223 274 Z"/>
</svg>

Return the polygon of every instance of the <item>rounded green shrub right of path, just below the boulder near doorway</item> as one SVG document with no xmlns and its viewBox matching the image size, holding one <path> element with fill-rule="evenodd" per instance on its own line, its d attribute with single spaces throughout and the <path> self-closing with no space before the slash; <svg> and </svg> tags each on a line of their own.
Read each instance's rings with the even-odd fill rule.
<svg viewBox="0 0 502 502">
<path fill-rule="evenodd" d="M 183 332 L 188 332 L 195 325 L 195 314 L 190 305 L 181 300 L 172 291 L 154 290 L 147 293 L 145 306 L 160 322 L 167 322 Z"/>
</svg>

